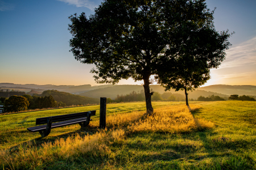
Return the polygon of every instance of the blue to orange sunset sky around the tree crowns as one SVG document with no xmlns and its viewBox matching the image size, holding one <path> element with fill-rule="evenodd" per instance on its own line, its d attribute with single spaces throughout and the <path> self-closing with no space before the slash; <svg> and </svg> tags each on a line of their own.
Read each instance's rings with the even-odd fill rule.
<svg viewBox="0 0 256 170">
<path fill-rule="evenodd" d="M 76 61 L 69 52 L 68 19 L 94 14 L 102 1 L 0 0 L 0 83 L 82 85 L 94 82 L 93 65 Z M 207 0 L 217 31 L 236 32 L 229 38 L 226 59 L 211 69 L 213 84 L 256 86 L 256 1 Z M 142 84 L 133 79 L 118 84 Z"/>
</svg>

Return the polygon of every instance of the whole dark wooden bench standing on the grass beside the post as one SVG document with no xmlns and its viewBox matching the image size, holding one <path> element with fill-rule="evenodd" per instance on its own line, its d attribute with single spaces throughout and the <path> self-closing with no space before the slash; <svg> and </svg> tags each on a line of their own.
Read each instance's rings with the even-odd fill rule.
<svg viewBox="0 0 256 170">
<path fill-rule="evenodd" d="M 95 116 L 96 111 L 89 112 L 80 112 L 80 113 L 72 113 L 72 114 L 64 114 L 59 116 L 52 117 L 41 117 L 36 118 L 36 125 L 31 128 L 27 128 L 28 131 L 36 132 L 39 131 L 42 137 L 46 137 L 53 128 L 59 128 L 61 126 L 79 124 L 81 128 L 85 128 L 89 125 L 91 119 L 90 116 Z M 52 124 L 52 122 L 57 122 Z M 46 124 L 46 125 L 42 125 Z"/>
</svg>

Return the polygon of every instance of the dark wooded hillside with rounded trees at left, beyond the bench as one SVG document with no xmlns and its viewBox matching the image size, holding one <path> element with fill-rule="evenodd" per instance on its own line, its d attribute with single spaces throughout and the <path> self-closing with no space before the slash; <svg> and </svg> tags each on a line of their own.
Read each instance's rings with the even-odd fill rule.
<svg viewBox="0 0 256 170">
<path fill-rule="evenodd" d="M 13 91 L 12 96 L 9 95 L 10 97 L 5 97 L 6 93 L 0 97 L 0 104 L 4 105 L 6 112 L 18 112 L 27 109 L 66 107 L 70 105 L 98 104 L 100 101 L 99 99 L 72 95 L 67 92 L 60 92 L 57 90 L 46 90 L 41 95 L 34 94 L 32 96 L 26 94 L 25 92 L 18 93 Z"/>
</svg>

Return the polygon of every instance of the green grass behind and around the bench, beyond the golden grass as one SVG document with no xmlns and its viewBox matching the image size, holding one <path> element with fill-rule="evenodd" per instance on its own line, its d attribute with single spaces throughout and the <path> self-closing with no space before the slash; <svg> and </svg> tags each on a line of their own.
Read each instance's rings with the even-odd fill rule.
<svg viewBox="0 0 256 170">
<path fill-rule="evenodd" d="M 154 102 L 154 108 L 162 107 L 170 104 L 181 104 L 182 102 Z M 80 125 L 64 126 L 62 128 L 52 129 L 47 138 L 41 139 L 39 133 L 31 133 L 27 128 L 36 126 L 35 120 L 39 117 L 57 116 L 61 114 L 79 113 L 86 111 L 96 110 L 96 116 L 92 116 L 92 123 L 99 126 L 100 124 L 100 105 L 92 105 L 85 107 L 64 108 L 64 109 L 50 109 L 46 111 L 26 112 L 4 114 L 0 116 L 0 150 L 11 148 L 16 149 L 20 144 L 26 145 L 27 142 L 43 143 L 47 141 L 55 141 L 57 138 L 67 137 L 75 133 L 86 134 L 80 130 Z M 145 111 L 145 103 L 121 103 L 121 104 L 108 104 L 107 115 L 112 115 L 116 112 L 131 112 L 131 111 Z M 97 125 L 98 124 L 98 125 Z"/>
</svg>

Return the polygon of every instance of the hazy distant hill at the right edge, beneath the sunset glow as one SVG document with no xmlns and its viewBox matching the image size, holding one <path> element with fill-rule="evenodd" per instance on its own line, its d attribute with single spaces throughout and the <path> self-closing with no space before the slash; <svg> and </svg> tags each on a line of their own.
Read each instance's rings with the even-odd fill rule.
<svg viewBox="0 0 256 170">
<path fill-rule="evenodd" d="M 256 86 L 250 86 L 250 85 L 212 85 L 212 86 L 206 86 L 206 87 L 200 87 L 199 90 L 205 90 L 205 91 L 211 91 L 211 92 L 217 92 L 220 94 L 225 95 L 256 95 Z"/>
</svg>

